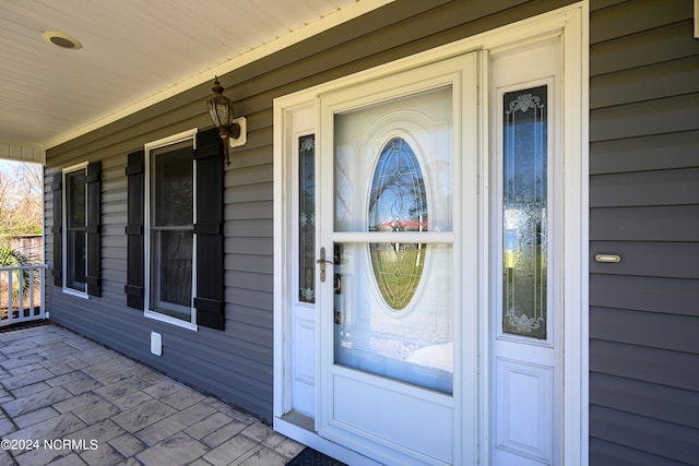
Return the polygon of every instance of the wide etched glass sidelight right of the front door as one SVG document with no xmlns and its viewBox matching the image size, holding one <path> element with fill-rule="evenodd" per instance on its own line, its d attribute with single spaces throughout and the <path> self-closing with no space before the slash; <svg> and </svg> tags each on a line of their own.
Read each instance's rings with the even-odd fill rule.
<svg viewBox="0 0 699 466">
<path fill-rule="evenodd" d="M 503 96 L 502 331 L 546 339 L 547 86 Z"/>
</svg>

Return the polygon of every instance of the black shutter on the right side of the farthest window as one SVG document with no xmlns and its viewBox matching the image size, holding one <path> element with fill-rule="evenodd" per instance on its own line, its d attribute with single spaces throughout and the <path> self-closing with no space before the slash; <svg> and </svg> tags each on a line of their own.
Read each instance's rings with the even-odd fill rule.
<svg viewBox="0 0 699 466">
<path fill-rule="evenodd" d="M 99 162 L 87 165 L 87 218 L 85 232 L 87 234 L 87 295 L 102 295 L 102 250 L 100 250 L 100 202 L 102 202 L 102 164 Z"/>
</svg>

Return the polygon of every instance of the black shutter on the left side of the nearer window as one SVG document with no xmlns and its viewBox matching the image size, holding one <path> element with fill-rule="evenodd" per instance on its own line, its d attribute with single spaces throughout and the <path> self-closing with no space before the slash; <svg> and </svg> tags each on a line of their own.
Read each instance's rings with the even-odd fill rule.
<svg viewBox="0 0 699 466">
<path fill-rule="evenodd" d="M 127 158 L 127 306 L 143 310 L 143 189 L 144 151 L 133 152 Z"/>
</svg>

